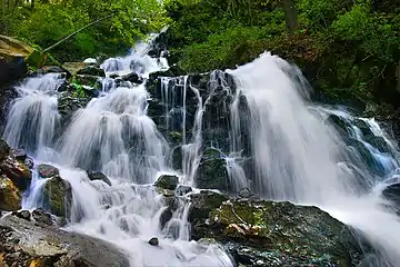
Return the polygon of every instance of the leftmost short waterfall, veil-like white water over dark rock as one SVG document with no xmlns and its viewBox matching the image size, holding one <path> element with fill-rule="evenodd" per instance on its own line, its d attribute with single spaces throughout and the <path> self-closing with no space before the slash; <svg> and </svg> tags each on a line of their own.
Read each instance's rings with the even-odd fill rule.
<svg viewBox="0 0 400 267">
<path fill-rule="evenodd" d="M 37 154 L 52 145 L 60 118 L 57 89 L 62 82 L 60 75 L 50 73 L 16 87 L 19 97 L 12 103 L 4 129 L 4 139 L 10 146 Z"/>
</svg>

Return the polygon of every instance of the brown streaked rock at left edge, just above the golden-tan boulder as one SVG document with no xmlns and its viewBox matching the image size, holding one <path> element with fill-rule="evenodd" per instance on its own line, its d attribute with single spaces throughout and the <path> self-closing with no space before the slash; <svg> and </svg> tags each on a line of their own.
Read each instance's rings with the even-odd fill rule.
<svg viewBox="0 0 400 267">
<path fill-rule="evenodd" d="M 9 178 L 20 190 L 26 190 L 32 180 L 32 174 L 24 162 L 8 156 L 0 162 L 0 174 Z"/>
</svg>

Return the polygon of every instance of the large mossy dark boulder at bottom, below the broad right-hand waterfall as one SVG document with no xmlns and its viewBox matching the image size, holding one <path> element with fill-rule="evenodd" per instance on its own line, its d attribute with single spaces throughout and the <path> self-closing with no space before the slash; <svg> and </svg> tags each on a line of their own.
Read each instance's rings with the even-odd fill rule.
<svg viewBox="0 0 400 267">
<path fill-rule="evenodd" d="M 241 266 L 356 266 L 362 254 L 352 231 L 317 207 L 229 200 L 202 221 L 193 237 L 214 238 Z"/>
</svg>

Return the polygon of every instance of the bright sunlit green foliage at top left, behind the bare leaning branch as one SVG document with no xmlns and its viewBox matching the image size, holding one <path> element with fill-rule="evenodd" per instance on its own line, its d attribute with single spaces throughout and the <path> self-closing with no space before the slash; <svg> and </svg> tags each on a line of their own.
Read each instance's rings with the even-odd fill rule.
<svg viewBox="0 0 400 267">
<path fill-rule="evenodd" d="M 46 49 L 92 21 L 51 52 L 60 61 L 118 53 L 167 24 L 158 0 L 2 0 L 0 33 Z"/>
</svg>

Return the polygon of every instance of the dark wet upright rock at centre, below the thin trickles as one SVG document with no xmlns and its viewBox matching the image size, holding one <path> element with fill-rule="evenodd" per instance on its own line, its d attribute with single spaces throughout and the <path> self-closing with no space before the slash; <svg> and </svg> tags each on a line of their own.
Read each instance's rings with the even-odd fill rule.
<svg viewBox="0 0 400 267">
<path fill-rule="evenodd" d="M 207 148 L 201 157 L 196 177 L 196 185 L 204 189 L 229 191 L 227 162 L 221 152 L 214 148 Z"/>
</svg>

